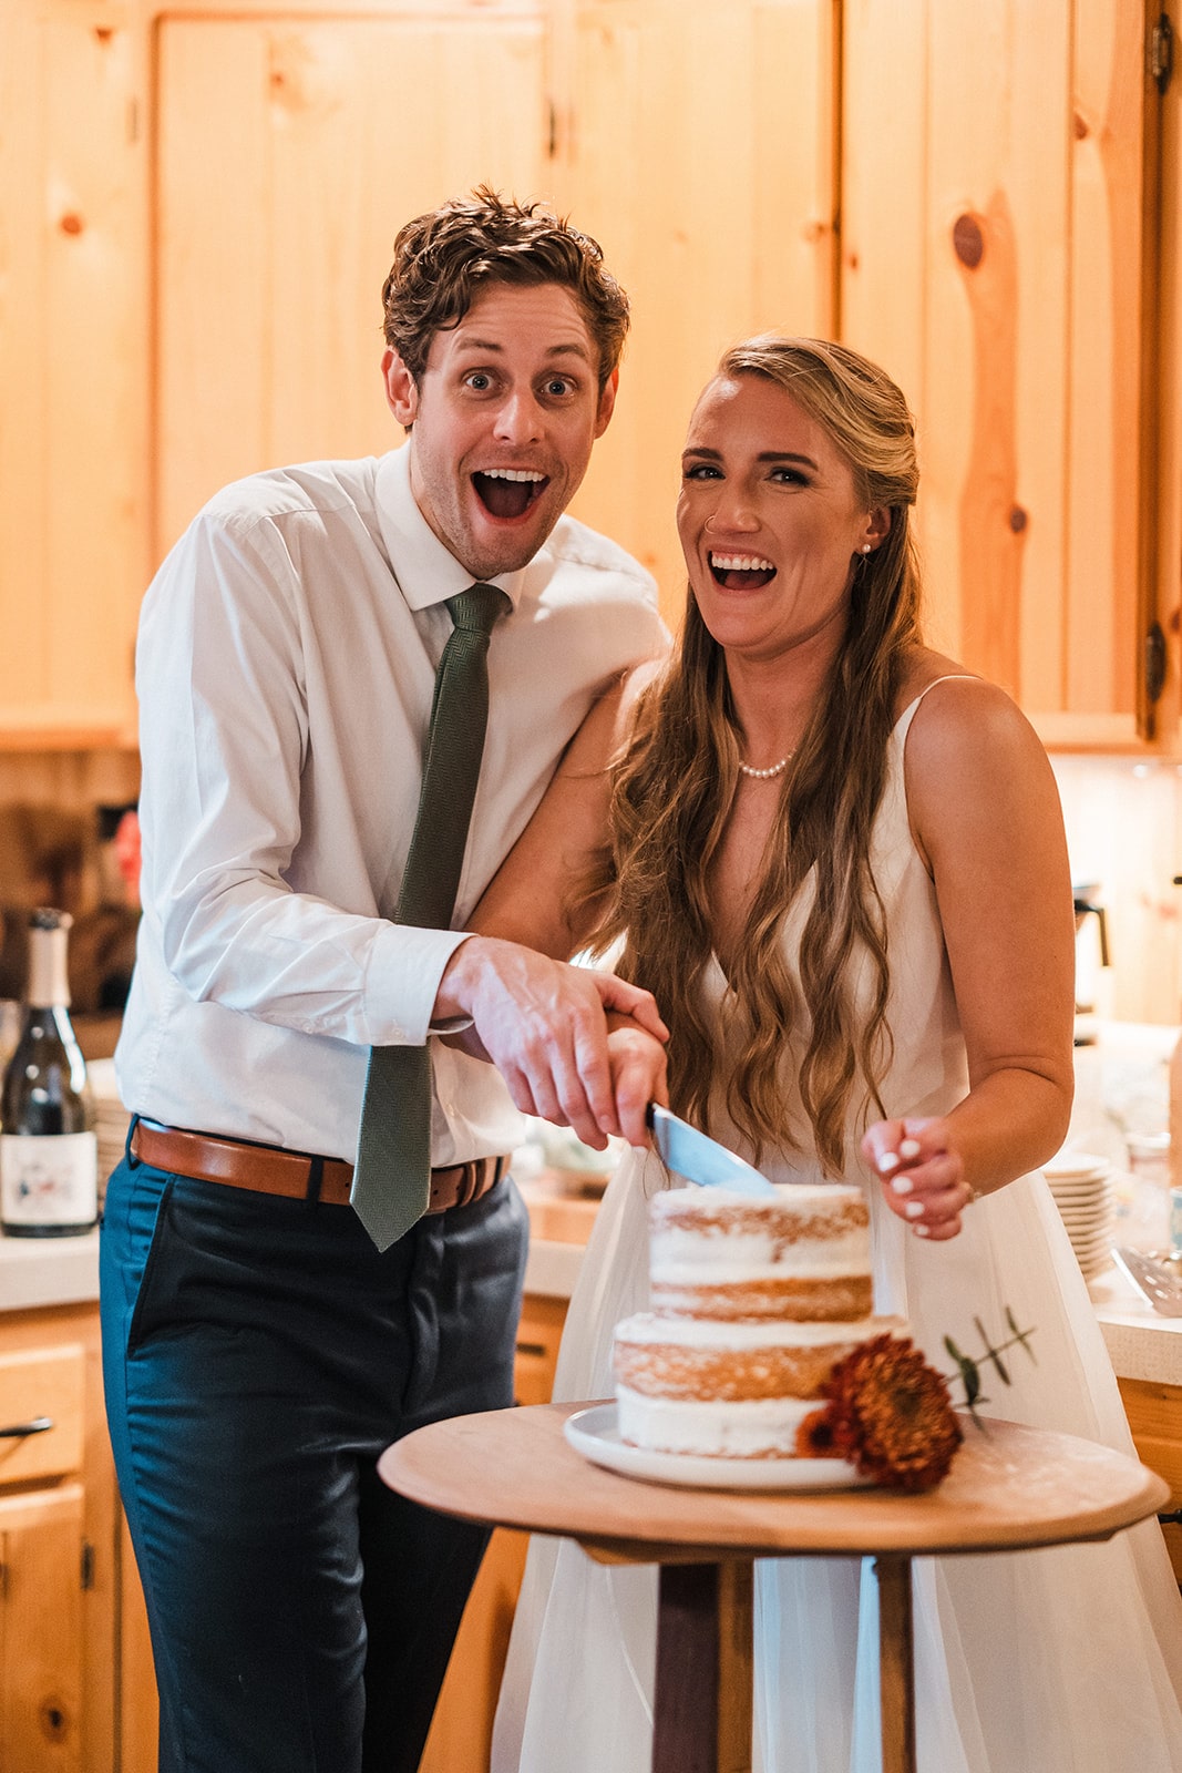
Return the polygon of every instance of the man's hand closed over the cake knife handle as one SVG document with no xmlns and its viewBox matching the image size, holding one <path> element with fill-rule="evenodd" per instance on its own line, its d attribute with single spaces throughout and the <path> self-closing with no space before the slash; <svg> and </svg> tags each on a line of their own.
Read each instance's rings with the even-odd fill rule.
<svg viewBox="0 0 1182 1773">
<path fill-rule="evenodd" d="M 634 1032 L 617 1028 L 611 1046 L 608 1011 L 636 1025 Z M 595 1151 L 604 1149 L 610 1133 L 647 1144 L 649 1097 L 638 1108 L 638 1096 L 643 1089 L 665 1090 L 652 1046 L 668 1039 L 652 993 L 615 973 L 551 961 L 516 941 L 470 936 L 439 980 L 434 1018 L 448 1016 L 471 1016 L 523 1113 L 572 1128 Z M 638 1046 L 642 1035 L 650 1043 L 645 1050 Z"/>
</svg>

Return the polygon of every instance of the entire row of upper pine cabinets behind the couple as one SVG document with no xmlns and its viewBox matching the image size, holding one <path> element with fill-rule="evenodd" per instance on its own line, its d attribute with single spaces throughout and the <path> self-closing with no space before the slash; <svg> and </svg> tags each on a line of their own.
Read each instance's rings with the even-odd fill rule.
<svg viewBox="0 0 1182 1773">
<path fill-rule="evenodd" d="M 670 615 L 696 390 L 746 332 L 831 332 L 916 406 L 934 638 L 1051 745 L 1173 745 L 1182 197 L 1161 18 L 9 0 L 0 745 L 129 743 L 138 601 L 200 502 L 395 440 L 392 234 L 480 179 L 569 209 L 633 294 L 576 511 L 657 573 Z"/>
</svg>

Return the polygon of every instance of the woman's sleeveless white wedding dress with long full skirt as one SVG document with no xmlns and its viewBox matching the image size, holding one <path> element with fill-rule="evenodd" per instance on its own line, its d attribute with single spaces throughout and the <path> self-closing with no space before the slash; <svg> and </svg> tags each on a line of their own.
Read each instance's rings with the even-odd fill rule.
<svg viewBox="0 0 1182 1773">
<path fill-rule="evenodd" d="M 895 727 L 874 830 L 893 980 L 890 1115 L 945 1112 L 968 1089 L 936 897 L 907 826 L 902 761 L 916 706 Z M 787 943 L 799 941 L 803 917 L 799 906 Z M 718 968 L 712 991 L 725 1027 Z M 790 1060 L 789 1046 L 785 1087 Z M 711 1131 L 741 1147 L 723 1115 Z M 776 1181 L 817 1179 L 790 1154 L 764 1168 Z M 847 1177 L 867 1183 L 875 1308 L 904 1314 L 932 1365 L 952 1372 L 945 1335 L 980 1353 L 978 1319 L 1005 1340 L 1007 1308 L 1031 1332 L 1033 1360 L 1021 1347 L 1007 1358 L 1008 1388 L 984 1369 L 984 1415 L 1132 1452 L 1086 1285 L 1040 1175 L 971 1206 L 946 1243 L 911 1236 L 883 1206 L 852 1124 Z M 640 1152 L 611 1179 L 571 1301 L 555 1397 L 611 1395 L 611 1330 L 647 1308 L 645 1209 L 663 1186 L 659 1163 Z M 1182 1601 L 1155 1521 L 1106 1544 L 925 1558 L 913 1571 L 920 1773 L 1182 1773 Z M 757 1564 L 757 1773 L 879 1773 L 875 1601 L 868 1562 Z M 572 1541 L 535 1537 L 493 1773 L 649 1773 L 654 1651 L 654 1567 L 599 1566 Z"/>
</svg>

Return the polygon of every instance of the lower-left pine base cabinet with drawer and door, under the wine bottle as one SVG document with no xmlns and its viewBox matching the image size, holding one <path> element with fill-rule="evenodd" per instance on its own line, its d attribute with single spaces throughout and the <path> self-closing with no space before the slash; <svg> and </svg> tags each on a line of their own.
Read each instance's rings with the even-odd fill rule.
<svg viewBox="0 0 1182 1773">
<path fill-rule="evenodd" d="M 96 1305 L 0 1312 L 0 1766 L 113 1773 L 119 1509 Z"/>
</svg>

